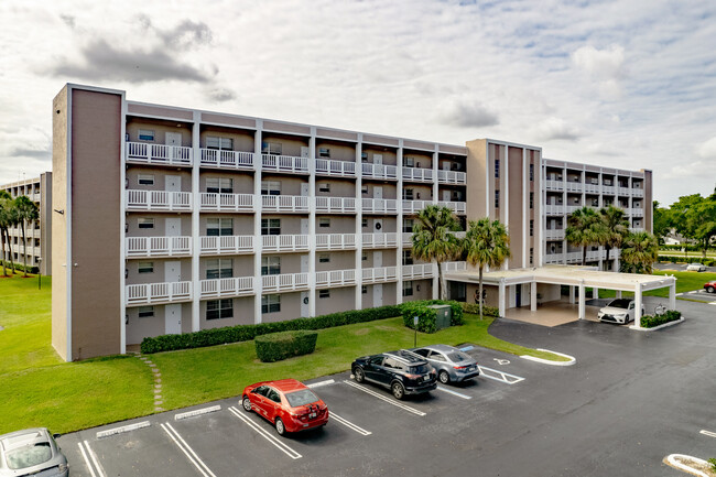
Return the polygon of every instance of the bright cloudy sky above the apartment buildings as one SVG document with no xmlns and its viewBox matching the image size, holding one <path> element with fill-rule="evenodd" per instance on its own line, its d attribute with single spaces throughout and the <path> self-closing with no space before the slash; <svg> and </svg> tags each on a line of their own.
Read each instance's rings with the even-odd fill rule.
<svg viewBox="0 0 716 477">
<path fill-rule="evenodd" d="M 107 4 L 106 4 L 107 3 Z M 0 2 L 0 183 L 50 170 L 65 83 L 130 100 L 716 185 L 713 0 Z"/>
</svg>

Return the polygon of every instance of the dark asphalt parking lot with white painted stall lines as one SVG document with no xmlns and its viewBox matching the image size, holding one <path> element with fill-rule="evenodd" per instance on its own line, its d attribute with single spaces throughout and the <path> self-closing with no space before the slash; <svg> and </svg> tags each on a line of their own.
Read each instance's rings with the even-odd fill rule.
<svg viewBox="0 0 716 477">
<path fill-rule="evenodd" d="M 716 438 L 699 434 L 716 431 L 712 306 L 681 307 L 687 321 L 669 333 L 501 321 L 496 336 L 571 354 L 577 364 L 473 348 L 480 377 L 404 401 L 348 372 L 310 381 L 332 413 L 317 432 L 279 437 L 241 409 L 237 390 L 237 398 L 58 442 L 72 475 L 91 477 L 680 475 L 661 463 L 665 455 L 716 455 Z M 176 419 L 192 411 L 211 412 Z M 118 432 L 127 425 L 137 429 Z"/>
</svg>

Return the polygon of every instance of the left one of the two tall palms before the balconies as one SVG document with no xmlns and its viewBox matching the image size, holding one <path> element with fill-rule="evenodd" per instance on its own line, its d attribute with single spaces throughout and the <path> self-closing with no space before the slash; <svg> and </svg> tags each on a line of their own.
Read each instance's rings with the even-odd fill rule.
<svg viewBox="0 0 716 477">
<path fill-rule="evenodd" d="M 413 228 L 413 256 L 419 260 L 437 263 L 437 291 L 445 299 L 442 263 L 459 253 L 459 242 L 454 234 L 460 229 L 457 217 L 448 207 L 432 204 L 417 213 Z"/>
</svg>

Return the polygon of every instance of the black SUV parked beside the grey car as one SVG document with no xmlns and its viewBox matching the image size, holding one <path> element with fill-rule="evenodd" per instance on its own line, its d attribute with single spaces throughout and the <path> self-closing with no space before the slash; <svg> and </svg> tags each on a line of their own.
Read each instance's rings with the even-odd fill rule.
<svg viewBox="0 0 716 477">
<path fill-rule="evenodd" d="M 389 351 L 356 359 L 350 369 L 356 382 L 370 381 L 390 389 L 395 399 L 420 394 L 437 388 L 437 375 L 420 356 L 405 351 Z"/>
</svg>

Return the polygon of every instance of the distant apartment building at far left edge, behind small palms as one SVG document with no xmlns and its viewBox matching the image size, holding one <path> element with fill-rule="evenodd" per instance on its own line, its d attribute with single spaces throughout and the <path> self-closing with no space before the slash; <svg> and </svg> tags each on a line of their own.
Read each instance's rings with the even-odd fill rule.
<svg viewBox="0 0 716 477">
<path fill-rule="evenodd" d="M 37 220 L 25 224 L 26 249 L 22 243 L 22 227 L 20 224 L 10 227 L 12 260 L 37 267 L 40 273 L 52 273 L 52 172 L 44 172 L 40 177 L 28 178 L 0 185 L 0 191 L 8 192 L 12 198 L 28 196 L 39 209 Z"/>
</svg>

